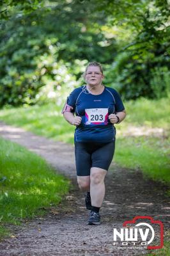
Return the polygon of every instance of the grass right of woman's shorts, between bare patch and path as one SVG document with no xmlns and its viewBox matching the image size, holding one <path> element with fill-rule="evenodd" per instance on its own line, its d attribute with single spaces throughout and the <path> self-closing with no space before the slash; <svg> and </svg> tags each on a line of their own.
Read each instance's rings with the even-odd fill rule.
<svg viewBox="0 0 170 256">
<path fill-rule="evenodd" d="M 157 138 L 118 138 L 114 161 L 144 175 L 170 184 L 169 143 Z"/>
</svg>

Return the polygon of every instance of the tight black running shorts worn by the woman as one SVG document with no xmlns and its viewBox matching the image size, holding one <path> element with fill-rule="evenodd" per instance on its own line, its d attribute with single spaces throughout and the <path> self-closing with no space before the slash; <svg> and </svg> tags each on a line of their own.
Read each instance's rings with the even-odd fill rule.
<svg viewBox="0 0 170 256">
<path fill-rule="evenodd" d="M 90 175 L 91 167 L 108 170 L 114 155 L 115 141 L 109 143 L 75 142 L 77 176 Z"/>
</svg>

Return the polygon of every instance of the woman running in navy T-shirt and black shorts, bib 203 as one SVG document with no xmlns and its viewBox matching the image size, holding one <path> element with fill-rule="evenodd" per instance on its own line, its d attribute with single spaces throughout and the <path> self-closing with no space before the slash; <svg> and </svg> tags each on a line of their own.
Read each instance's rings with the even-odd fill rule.
<svg viewBox="0 0 170 256">
<path fill-rule="evenodd" d="M 120 124 L 126 113 L 118 92 L 102 84 L 100 63 L 89 63 L 84 79 L 86 84 L 70 93 L 62 113 L 68 123 L 76 126 L 77 182 L 82 191 L 87 191 L 86 208 L 91 210 L 88 224 L 98 225 L 105 195 L 104 179 L 114 155 L 114 124 Z"/>
</svg>

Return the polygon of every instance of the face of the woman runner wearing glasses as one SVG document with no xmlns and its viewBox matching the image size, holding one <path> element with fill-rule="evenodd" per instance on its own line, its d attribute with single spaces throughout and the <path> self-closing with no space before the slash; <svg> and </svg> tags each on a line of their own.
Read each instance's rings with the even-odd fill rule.
<svg viewBox="0 0 170 256">
<path fill-rule="evenodd" d="M 92 86 L 97 86 L 102 83 L 102 79 L 104 78 L 102 72 L 100 71 L 100 67 L 89 66 L 86 71 L 86 83 Z"/>
</svg>

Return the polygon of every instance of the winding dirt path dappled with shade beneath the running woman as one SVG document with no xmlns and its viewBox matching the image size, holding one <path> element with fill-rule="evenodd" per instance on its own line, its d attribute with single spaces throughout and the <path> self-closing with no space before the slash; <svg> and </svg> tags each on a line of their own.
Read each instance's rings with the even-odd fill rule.
<svg viewBox="0 0 170 256">
<path fill-rule="evenodd" d="M 143 255 L 148 250 L 118 250 L 112 243 L 113 228 L 135 216 L 152 216 L 169 228 L 166 187 L 144 180 L 141 172 L 112 164 L 105 179 L 106 195 L 101 210 L 102 225 L 87 225 L 84 194 L 77 188 L 73 146 L 35 136 L 31 132 L 0 123 L 0 136 L 24 145 L 44 157 L 56 170 L 72 179 L 73 191 L 56 209 L 22 227 L 13 227 L 14 238 L 0 242 L 0 255 Z M 114 170 L 114 172 L 113 172 Z M 158 236 L 158 235 L 157 235 Z"/>
</svg>

